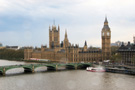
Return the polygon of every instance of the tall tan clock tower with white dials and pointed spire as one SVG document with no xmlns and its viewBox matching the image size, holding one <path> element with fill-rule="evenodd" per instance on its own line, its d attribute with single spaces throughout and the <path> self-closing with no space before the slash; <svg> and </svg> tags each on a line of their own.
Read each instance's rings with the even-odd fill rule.
<svg viewBox="0 0 135 90">
<path fill-rule="evenodd" d="M 107 17 L 101 32 L 102 37 L 102 60 L 108 60 L 111 57 L 111 30 L 108 26 Z"/>
</svg>

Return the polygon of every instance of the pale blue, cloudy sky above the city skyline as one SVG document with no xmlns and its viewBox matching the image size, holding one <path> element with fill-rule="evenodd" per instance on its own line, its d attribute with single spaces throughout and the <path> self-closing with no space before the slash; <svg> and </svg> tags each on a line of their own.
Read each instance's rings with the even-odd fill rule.
<svg viewBox="0 0 135 90">
<path fill-rule="evenodd" d="M 133 42 L 135 0 L 0 0 L 0 43 L 9 46 L 49 44 L 49 25 L 65 29 L 72 44 L 101 47 L 107 16 L 111 42 Z"/>
</svg>

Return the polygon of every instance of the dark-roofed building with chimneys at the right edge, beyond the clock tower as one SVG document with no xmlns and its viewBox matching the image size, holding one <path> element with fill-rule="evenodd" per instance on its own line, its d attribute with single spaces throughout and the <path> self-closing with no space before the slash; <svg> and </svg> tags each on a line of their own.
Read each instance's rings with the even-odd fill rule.
<svg viewBox="0 0 135 90">
<path fill-rule="evenodd" d="M 122 43 L 118 49 L 118 53 L 121 55 L 121 63 L 125 65 L 135 66 L 135 44 L 128 42 L 127 45 Z"/>
</svg>

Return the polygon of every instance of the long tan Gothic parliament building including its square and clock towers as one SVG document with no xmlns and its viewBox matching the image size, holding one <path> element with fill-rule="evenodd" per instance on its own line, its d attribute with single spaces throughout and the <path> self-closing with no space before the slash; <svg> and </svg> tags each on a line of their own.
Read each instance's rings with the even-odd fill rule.
<svg viewBox="0 0 135 90">
<path fill-rule="evenodd" d="M 105 18 L 103 28 L 101 30 L 102 49 L 87 46 L 85 41 L 83 47 L 73 45 L 69 42 L 67 31 L 65 38 L 60 42 L 60 27 L 49 26 L 49 48 L 41 46 L 40 49 L 26 48 L 24 50 L 24 59 L 30 58 L 49 59 L 58 62 L 99 62 L 108 60 L 111 56 L 111 30 Z"/>
</svg>

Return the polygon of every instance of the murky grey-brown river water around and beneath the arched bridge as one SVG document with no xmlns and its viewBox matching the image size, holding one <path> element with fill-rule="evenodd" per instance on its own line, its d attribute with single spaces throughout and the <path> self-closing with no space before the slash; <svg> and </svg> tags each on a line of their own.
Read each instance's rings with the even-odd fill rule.
<svg viewBox="0 0 135 90">
<path fill-rule="evenodd" d="M 16 64 L 25 63 L 0 60 L 0 66 Z M 24 74 L 19 68 L 0 76 L 0 90 L 135 90 L 135 76 L 85 70 L 47 72 L 46 67 Z"/>
</svg>

